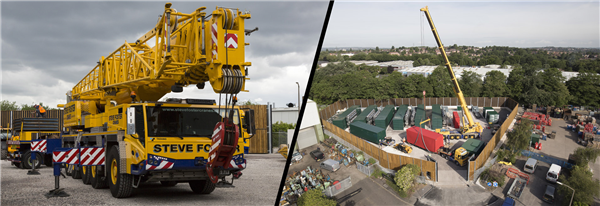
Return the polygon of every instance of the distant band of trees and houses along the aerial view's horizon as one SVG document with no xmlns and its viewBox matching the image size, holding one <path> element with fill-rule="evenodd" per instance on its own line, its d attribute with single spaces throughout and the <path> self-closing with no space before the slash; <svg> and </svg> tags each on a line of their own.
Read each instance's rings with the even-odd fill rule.
<svg viewBox="0 0 600 206">
<path fill-rule="evenodd" d="M 453 52 L 448 52 L 452 50 Z M 554 54 L 553 51 L 557 50 Z M 592 71 L 600 73 L 600 58 L 588 58 L 598 56 L 597 49 L 554 49 L 547 51 L 537 48 L 516 48 L 490 46 L 476 48 L 471 46 L 449 46 L 446 50 L 450 62 L 461 66 L 485 66 L 497 65 L 522 65 L 536 68 L 558 68 L 564 71 Z M 581 50 L 581 51 L 580 51 Z M 436 54 L 435 47 L 400 47 L 391 50 L 363 50 L 352 51 L 353 56 L 342 56 L 340 51 L 323 51 L 319 60 L 337 62 L 343 60 L 375 60 L 379 62 L 412 60 L 413 66 L 435 66 L 443 65 L 444 59 Z M 347 52 L 347 51 L 346 51 Z M 389 52 L 398 52 L 399 55 Z M 333 55 L 332 55 L 333 54 Z"/>
</svg>

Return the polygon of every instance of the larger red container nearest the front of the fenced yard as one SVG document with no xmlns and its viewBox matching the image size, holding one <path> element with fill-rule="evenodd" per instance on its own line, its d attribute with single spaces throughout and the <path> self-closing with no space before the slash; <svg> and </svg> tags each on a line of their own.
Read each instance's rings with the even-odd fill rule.
<svg viewBox="0 0 600 206">
<path fill-rule="evenodd" d="M 406 130 L 406 141 L 417 147 L 435 153 L 444 146 L 444 136 L 442 134 L 422 129 L 417 126 L 413 126 Z M 427 147 L 425 147 L 425 145 L 427 145 Z"/>
</svg>

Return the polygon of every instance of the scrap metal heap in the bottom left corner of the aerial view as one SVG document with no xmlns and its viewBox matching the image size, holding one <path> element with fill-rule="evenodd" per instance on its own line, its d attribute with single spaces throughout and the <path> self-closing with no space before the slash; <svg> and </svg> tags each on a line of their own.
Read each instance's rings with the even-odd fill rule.
<svg viewBox="0 0 600 206">
<path fill-rule="evenodd" d="M 329 175 L 324 175 L 320 169 L 310 166 L 304 170 L 293 172 L 285 180 L 280 205 L 295 204 L 305 192 L 314 189 L 323 191 L 334 183 L 336 182 Z"/>
</svg>

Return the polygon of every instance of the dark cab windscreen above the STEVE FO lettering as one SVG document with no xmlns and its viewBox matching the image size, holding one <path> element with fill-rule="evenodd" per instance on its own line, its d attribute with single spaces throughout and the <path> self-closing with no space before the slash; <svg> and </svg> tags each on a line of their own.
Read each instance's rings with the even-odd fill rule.
<svg viewBox="0 0 600 206">
<path fill-rule="evenodd" d="M 147 107 L 148 136 L 210 138 L 215 125 L 222 118 L 218 110 L 218 108 Z M 221 109 L 221 114 L 227 113 Z M 233 122 L 240 126 L 237 110 Z"/>
</svg>

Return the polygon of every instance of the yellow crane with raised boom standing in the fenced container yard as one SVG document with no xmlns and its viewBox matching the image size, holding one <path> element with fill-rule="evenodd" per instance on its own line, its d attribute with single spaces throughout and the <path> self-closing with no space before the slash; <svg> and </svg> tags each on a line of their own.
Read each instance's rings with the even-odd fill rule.
<svg viewBox="0 0 600 206">
<path fill-rule="evenodd" d="M 446 55 L 446 51 L 444 50 L 444 45 L 442 44 L 442 40 L 440 39 L 440 37 L 437 33 L 437 30 L 435 29 L 435 25 L 433 24 L 433 20 L 431 19 L 431 15 L 429 14 L 429 9 L 427 7 L 424 7 L 424 8 L 421 8 L 421 11 L 423 11 L 425 13 L 425 16 L 427 17 L 427 21 L 429 21 L 429 26 L 431 27 L 431 31 L 433 32 L 433 36 L 435 37 L 435 41 L 437 42 L 437 45 L 440 49 L 440 53 L 442 54 L 442 57 L 444 57 L 444 62 L 446 64 L 446 68 L 448 68 L 448 73 L 450 74 L 450 79 L 452 79 L 452 85 L 453 85 L 452 88 L 454 89 L 454 93 L 458 97 L 458 100 L 460 101 L 460 106 L 462 107 L 462 110 L 463 110 L 463 118 L 462 118 L 463 127 L 461 128 L 461 133 L 463 134 L 463 136 L 471 136 L 471 137 L 472 137 L 472 135 L 479 136 L 481 134 L 481 132 L 483 131 L 483 127 L 479 124 L 479 122 L 473 121 L 471 112 L 469 112 L 469 108 L 467 108 L 467 102 L 465 101 L 465 97 L 463 96 L 463 93 L 460 90 L 460 87 L 458 86 L 458 79 L 456 79 L 456 76 L 454 76 L 454 71 L 452 70 L 452 66 L 450 65 L 448 56 Z M 468 124 L 465 122 L 465 118 L 466 118 L 466 121 L 468 122 Z"/>
</svg>

